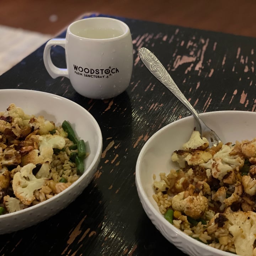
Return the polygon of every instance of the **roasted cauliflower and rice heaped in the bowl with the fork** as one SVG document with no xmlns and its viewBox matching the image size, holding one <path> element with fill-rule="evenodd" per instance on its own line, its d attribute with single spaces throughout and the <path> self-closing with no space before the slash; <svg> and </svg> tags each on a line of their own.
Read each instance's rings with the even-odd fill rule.
<svg viewBox="0 0 256 256">
<path fill-rule="evenodd" d="M 256 139 L 210 149 L 193 131 L 171 159 L 177 170 L 153 175 L 160 213 L 204 244 L 256 255 Z"/>
</svg>

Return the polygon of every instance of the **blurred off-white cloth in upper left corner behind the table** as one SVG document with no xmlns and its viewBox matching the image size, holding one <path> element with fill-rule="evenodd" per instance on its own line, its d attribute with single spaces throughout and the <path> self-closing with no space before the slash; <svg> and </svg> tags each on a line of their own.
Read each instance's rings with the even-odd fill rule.
<svg viewBox="0 0 256 256">
<path fill-rule="evenodd" d="M 50 38 L 48 34 L 0 25 L 0 75 Z"/>
</svg>

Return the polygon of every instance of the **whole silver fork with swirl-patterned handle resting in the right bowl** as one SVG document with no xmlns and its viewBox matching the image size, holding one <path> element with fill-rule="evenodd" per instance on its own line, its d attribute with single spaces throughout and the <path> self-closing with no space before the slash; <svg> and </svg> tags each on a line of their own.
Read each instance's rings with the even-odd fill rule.
<svg viewBox="0 0 256 256">
<path fill-rule="evenodd" d="M 207 138 L 209 147 L 217 146 L 221 142 L 219 136 L 202 121 L 199 114 L 192 107 L 187 98 L 182 94 L 174 80 L 171 78 L 170 74 L 164 68 L 162 63 L 155 57 L 155 55 L 150 52 L 149 49 L 142 47 L 139 49 L 139 57 L 149 71 L 193 114 L 194 118 L 199 124 L 201 137 Z"/>
</svg>

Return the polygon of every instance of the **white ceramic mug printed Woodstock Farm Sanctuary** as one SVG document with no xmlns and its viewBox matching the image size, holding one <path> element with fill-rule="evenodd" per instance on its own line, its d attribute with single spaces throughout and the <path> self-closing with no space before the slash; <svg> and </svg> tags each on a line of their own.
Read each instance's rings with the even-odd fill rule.
<svg viewBox="0 0 256 256">
<path fill-rule="evenodd" d="M 52 63 L 52 46 L 65 48 L 66 69 Z M 50 39 L 44 48 L 44 65 L 52 78 L 65 76 L 88 98 L 115 97 L 127 89 L 132 75 L 133 45 L 129 27 L 122 21 L 94 17 L 71 23 L 65 39 Z"/>
</svg>

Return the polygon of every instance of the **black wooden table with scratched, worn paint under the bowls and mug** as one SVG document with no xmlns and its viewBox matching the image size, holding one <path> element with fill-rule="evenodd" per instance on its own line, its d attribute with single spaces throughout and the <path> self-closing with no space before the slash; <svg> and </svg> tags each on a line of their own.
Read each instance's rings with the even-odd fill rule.
<svg viewBox="0 0 256 256">
<path fill-rule="evenodd" d="M 190 112 L 145 68 L 140 47 L 155 53 L 198 112 L 256 111 L 256 38 L 116 18 L 130 27 L 134 46 L 132 79 L 121 95 L 91 100 L 68 79 L 52 79 L 43 64 L 44 45 L 0 76 L 0 89 L 45 91 L 75 101 L 96 118 L 103 136 L 100 165 L 84 192 L 54 217 L 0 235 L 0 255 L 184 255 L 146 216 L 135 164 L 151 135 Z M 65 67 L 62 48 L 54 48 L 53 60 Z"/>
</svg>

